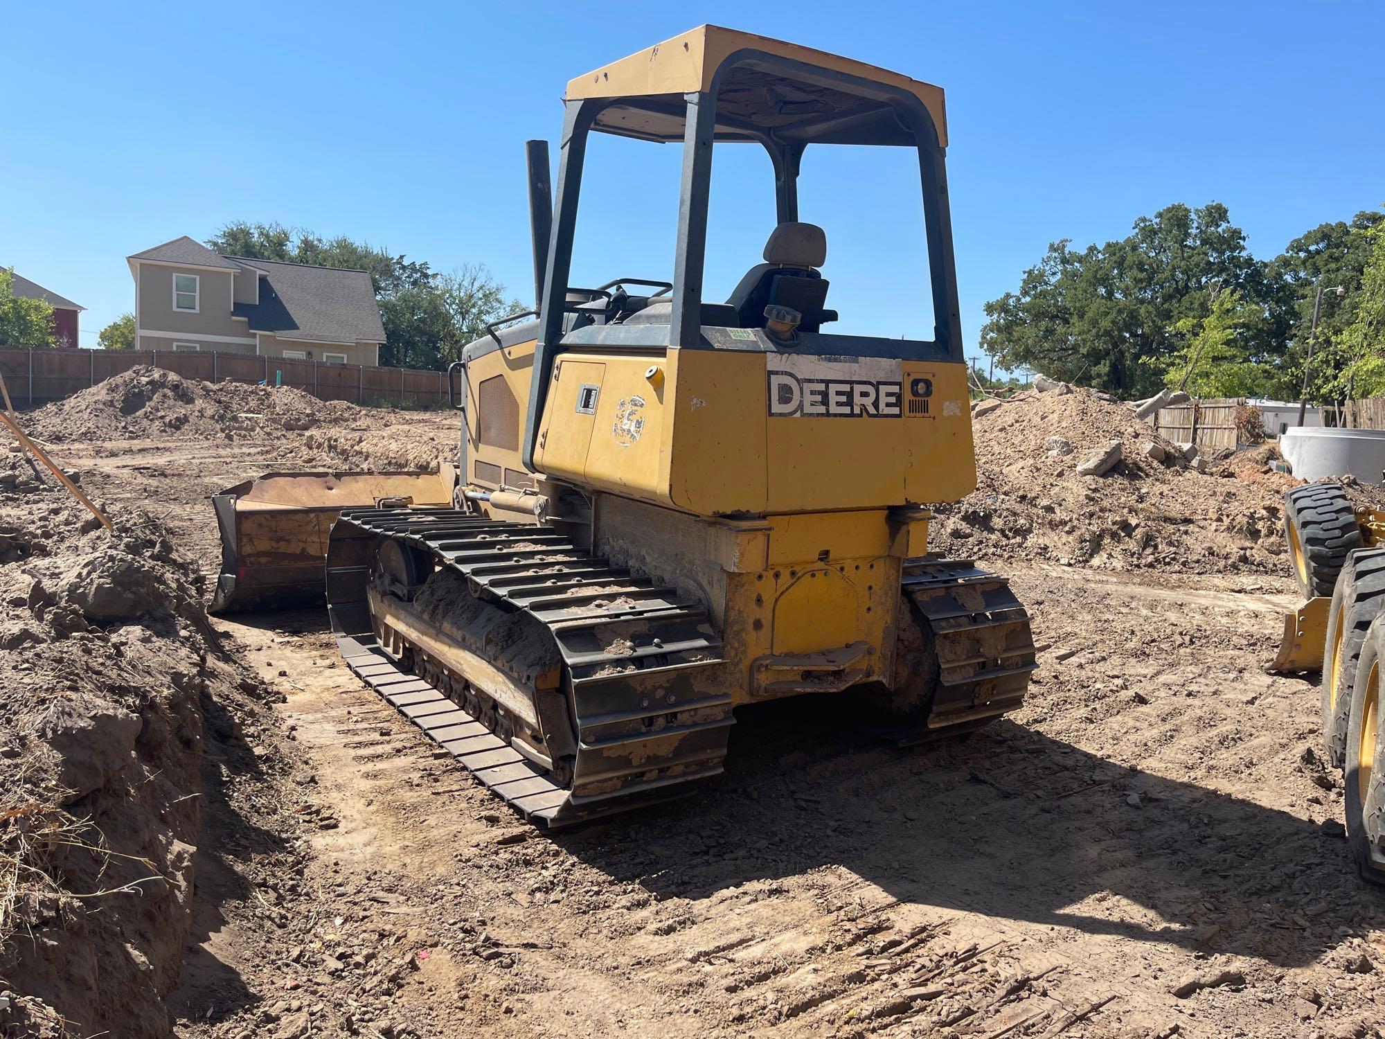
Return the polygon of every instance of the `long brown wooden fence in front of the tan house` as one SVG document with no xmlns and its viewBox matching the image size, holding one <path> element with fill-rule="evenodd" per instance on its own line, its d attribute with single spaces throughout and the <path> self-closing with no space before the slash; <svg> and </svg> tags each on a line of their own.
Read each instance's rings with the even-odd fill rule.
<svg viewBox="0 0 1385 1039">
<path fill-rule="evenodd" d="M 0 348 L 4 375 L 15 403 L 43 405 L 129 371 L 140 364 L 175 371 L 183 378 L 222 382 L 265 382 L 296 387 L 321 400 L 359 405 L 417 405 L 447 402 L 447 375 L 421 368 L 384 368 L 366 364 L 327 364 L 317 360 L 262 357 L 255 353 L 175 353 L 172 350 L 15 350 Z"/>
</svg>

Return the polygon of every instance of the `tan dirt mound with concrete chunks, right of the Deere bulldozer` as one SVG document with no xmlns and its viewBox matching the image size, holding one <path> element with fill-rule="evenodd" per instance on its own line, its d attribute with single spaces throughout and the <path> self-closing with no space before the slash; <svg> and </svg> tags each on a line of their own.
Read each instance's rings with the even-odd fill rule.
<svg viewBox="0 0 1385 1039">
<path fill-rule="evenodd" d="M 1197 471 L 1129 405 L 1084 389 L 1021 393 L 979 407 L 974 435 L 976 490 L 936 510 L 935 547 L 949 554 L 1102 569 L 1284 569 L 1283 490 L 1245 479 L 1240 465 Z M 1120 461 L 1079 475 L 1111 442 Z"/>
</svg>

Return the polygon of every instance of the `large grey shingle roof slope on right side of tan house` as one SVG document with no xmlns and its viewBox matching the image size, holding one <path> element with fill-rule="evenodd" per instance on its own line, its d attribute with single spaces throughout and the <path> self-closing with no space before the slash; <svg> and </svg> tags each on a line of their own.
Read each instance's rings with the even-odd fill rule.
<svg viewBox="0 0 1385 1039">
<path fill-rule="evenodd" d="M 314 342 L 384 342 L 375 288 L 364 270 L 224 258 L 265 273 L 259 303 L 235 303 L 251 331 Z"/>
</svg>

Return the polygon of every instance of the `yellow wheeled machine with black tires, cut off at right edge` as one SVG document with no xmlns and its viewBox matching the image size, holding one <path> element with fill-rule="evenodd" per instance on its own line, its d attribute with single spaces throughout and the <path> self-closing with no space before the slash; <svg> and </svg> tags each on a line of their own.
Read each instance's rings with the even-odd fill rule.
<svg viewBox="0 0 1385 1039">
<path fill-rule="evenodd" d="M 1321 671 L 1323 744 L 1345 770 L 1346 835 L 1357 873 L 1385 884 L 1385 514 L 1339 483 L 1284 496 L 1289 561 L 1303 605 L 1285 614 L 1271 671 Z"/>
</svg>

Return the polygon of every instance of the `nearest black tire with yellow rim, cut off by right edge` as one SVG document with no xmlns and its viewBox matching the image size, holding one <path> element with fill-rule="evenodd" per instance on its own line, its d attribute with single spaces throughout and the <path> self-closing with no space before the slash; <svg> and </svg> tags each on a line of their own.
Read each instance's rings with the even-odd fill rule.
<svg viewBox="0 0 1385 1039">
<path fill-rule="evenodd" d="M 1373 689 L 1374 687 L 1374 689 Z M 1385 691 L 1385 622 L 1377 619 L 1366 633 L 1361 657 L 1352 684 L 1350 720 L 1346 726 L 1346 844 L 1356 864 L 1356 873 L 1370 884 L 1385 885 L 1385 755 L 1379 754 L 1385 734 L 1381 716 L 1381 694 Z M 1371 761 L 1363 794 L 1361 730 L 1367 722 L 1377 729 L 1367 752 Z"/>
</svg>

